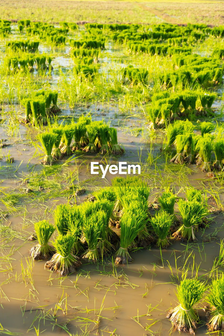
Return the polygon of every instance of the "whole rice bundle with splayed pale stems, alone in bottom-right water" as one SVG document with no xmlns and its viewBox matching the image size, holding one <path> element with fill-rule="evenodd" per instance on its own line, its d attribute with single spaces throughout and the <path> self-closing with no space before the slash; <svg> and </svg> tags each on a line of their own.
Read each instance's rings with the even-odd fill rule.
<svg viewBox="0 0 224 336">
<path fill-rule="evenodd" d="M 181 281 L 176 292 L 179 305 L 171 309 L 167 316 L 179 331 L 194 334 L 199 320 L 195 305 L 202 299 L 205 290 L 204 283 L 196 278 Z"/>
</svg>

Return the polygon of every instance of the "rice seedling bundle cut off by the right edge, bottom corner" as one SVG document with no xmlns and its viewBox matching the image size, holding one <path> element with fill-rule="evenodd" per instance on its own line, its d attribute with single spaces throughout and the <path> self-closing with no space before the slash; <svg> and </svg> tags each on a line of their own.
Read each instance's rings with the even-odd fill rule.
<svg viewBox="0 0 224 336">
<path fill-rule="evenodd" d="M 207 312 L 207 326 L 211 331 L 224 330 L 224 275 L 212 281 L 206 301 L 210 304 Z"/>
</svg>

